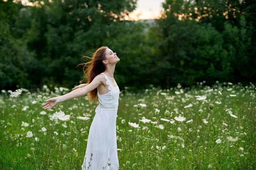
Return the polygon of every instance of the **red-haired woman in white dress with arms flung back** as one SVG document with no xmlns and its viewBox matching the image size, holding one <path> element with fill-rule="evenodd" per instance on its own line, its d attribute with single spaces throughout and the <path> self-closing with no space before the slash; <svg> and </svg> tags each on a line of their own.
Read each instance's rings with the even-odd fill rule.
<svg viewBox="0 0 256 170">
<path fill-rule="evenodd" d="M 111 49 L 102 46 L 93 53 L 92 60 L 84 65 L 87 84 L 81 84 L 68 94 L 45 100 L 44 109 L 49 109 L 68 99 L 84 96 L 93 102 L 99 99 L 93 122 L 90 126 L 82 170 L 118 170 L 116 146 L 116 116 L 119 87 L 114 71 L 119 58 Z M 89 65 L 85 68 L 86 65 Z"/>
</svg>

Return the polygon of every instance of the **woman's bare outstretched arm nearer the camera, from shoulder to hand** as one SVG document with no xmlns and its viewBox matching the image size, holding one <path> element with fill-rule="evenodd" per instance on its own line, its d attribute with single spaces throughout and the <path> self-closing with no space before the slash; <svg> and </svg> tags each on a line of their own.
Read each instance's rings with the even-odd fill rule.
<svg viewBox="0 0 256 170">
<path fill-rule="evenodd" d="M 52 97 L 51 99 L 45 100 L 43 104 L 43 109 L 49 109 L 54 107 L 55 105 L 57 105 L 59 102 L 63 102 L 65 100 L 68 99 L 73 99 L 76 97 L 80 97 L 80 96 L 84 96 L 85 94 L 87 94 L 88 92 L 94 90 L 96 87 L 98 87 L 98 85 L 100 85 L 102 83 L 102 76 L 96 76 L 93 81 L 86 85 L 83 88 L 78 88 L 74 91 L 71 91 L 68 94 L 62 95 L 62 96 L 57 96 L 57 97 Z"/>
</svg>

